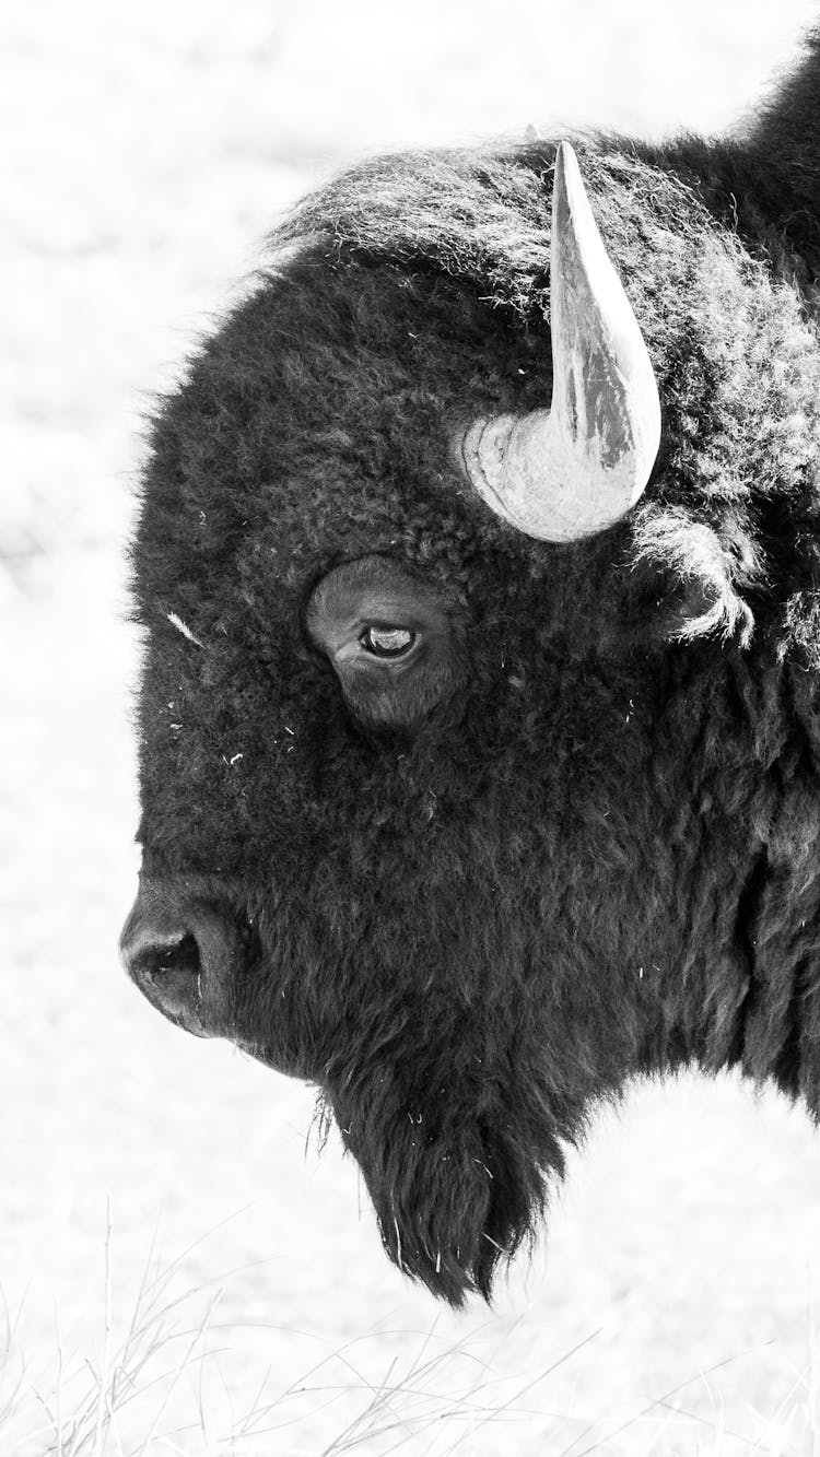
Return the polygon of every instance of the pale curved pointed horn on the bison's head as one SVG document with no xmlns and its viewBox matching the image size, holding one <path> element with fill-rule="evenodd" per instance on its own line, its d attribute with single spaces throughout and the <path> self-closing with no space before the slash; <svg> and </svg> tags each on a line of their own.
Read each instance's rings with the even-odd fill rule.
<svg viewBox="0 0 820 1457">
<path fill-rule="evenodd" d="M 638 321 L 565 141 L 552 194 L 551 315 L 551 408 L 476 420 L 459 446 L 498 516 L 527 536 L 569 542 L 612 526 L 641 497 L 661 412 Z"/>
</svg>

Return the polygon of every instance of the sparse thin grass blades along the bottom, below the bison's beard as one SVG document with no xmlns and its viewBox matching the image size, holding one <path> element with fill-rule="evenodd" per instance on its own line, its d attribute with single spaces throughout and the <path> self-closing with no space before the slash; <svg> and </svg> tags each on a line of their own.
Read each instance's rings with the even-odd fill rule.
<svg viewBox="0 0 820 1457">
<path fill-rule="evenodd" d="M 20 1349 L 25 1301 L 12 1316 L 0 1291 L 3 1457 L 344 1457 L 357 1451 L 387 1457 L 402 1448 L 425 1457 L 459 1451 L 472 1457 L 510 1450 L 511 1442 L 520 1454 L 548 1450 L 556 1457 L 820 1457 L 813 1314 L 805 1371 L 791 1372 L 770 1416 L 750 1409 L 752 1434 L 730 1429 L 720 1390 L 714 1390 L 715 1374 L 752 1352 L 696 1372 L 615 1423 L 606 1413 L 584 1421 L 530 1405 L 600 1330 L 513 1390 L 508 1378 L 494 1377 L 491 1359 L 472 1349 L 481 1329 L 452 1342 L 440 1339 L 435 1326 L 422 1336 L 371 1332 L 323 1355 L 290 1384 L 277 1386 L 268 1368 L 236 1416 L 220 1356 L 230 1354 L 237 1327 L 217 1321 L 221 1287 L 185 1284 L 184 1265 L 194 1247 L 162 1263 L 151 1243 L 130 1319 L 119 1330 L 108 1208 L 100 1352 L 67 1359 L 55 1311 L 55 1349 L 36 1378 Z M 380 1361 L 382 1374 L 374 1378 L 367 1343 L 377 1342 L 382 1352 L 396 1339 L 401 1354 Z M 680 1405 L 696 1383 L 709 1396 L 705 1416 Z"/>
</svg>

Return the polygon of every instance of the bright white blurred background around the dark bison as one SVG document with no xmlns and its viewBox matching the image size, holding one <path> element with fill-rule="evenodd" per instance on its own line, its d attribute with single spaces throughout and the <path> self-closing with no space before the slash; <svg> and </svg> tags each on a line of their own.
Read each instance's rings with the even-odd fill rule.
<svg viewBox="0 0 820 1457">
<path fill-rule="evenodd" d="M 277 214 L 387 147 L 721 130 L 817 9 L 6 0 L 1 1457 L 820 1451 L 800 1110 L 731 1080 L 636 1088 L 572 1158 L 532 1263 L 456 1316 L 387 1263 L 338 1141 L 306 1148 L 310 1090 L 165 1023 L 117 959 L 141 420 Z M 181 1303 L 111 1416 L 96 1383 L 146 1265 Z"/>
</svg>

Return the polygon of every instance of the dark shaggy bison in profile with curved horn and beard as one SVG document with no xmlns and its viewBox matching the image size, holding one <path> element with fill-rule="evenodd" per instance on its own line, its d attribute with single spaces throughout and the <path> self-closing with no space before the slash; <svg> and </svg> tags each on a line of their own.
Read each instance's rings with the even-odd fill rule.
<svg viewBox="0 0 820 1457">
<path fill-rule="evenodd" d="M 157 409 L 122 956 L 453 1304 L 635 1075 L 820 1109 L 819 87 L 367 160 Z"/>
</svg>

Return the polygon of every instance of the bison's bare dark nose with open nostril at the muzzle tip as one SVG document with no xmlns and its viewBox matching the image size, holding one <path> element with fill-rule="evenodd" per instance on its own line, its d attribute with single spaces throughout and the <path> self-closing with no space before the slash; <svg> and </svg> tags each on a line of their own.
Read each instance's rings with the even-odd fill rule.
<svg viewBox="0 0 820 1457">
<path fill-rule="evenodd" d="M 128 976 L 151 1007 L 197 1037 L 229 1034 L 229 988 L 240 937 L 204 906 L 141 890 L 119 937 Z"/>
</svg>

